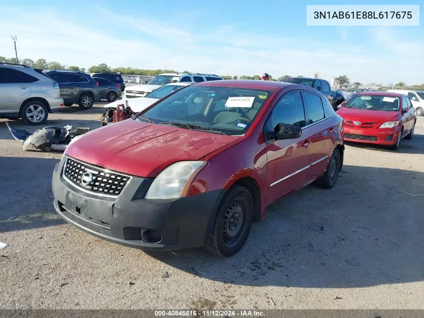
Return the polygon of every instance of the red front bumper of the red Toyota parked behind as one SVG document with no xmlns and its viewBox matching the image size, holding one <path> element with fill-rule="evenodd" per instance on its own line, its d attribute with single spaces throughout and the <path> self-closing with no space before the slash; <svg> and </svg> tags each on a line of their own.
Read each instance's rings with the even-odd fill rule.
<svg viewBox="0 0 424 318">
<path fill-rule="evenodd" d="M 400 134 L 399 126 L 394 128 L 352 128 L 344 126 L 344 140 L 367 144 L 393 145 Z"/>
</svg>

